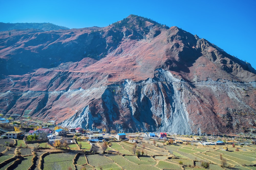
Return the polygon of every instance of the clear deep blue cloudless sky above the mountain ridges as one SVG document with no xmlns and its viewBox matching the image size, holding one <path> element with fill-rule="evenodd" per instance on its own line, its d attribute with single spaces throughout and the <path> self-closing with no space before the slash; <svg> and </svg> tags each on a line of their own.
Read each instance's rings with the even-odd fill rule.
<svg viewBox="0 0 256 170">
<path fill-rule="evenodd" d="M 130 14 L 197 34 L 256 69 L 256 0 L 0 0 L 0 22 L 5 23 L 105 27 Z"/>
</svg>

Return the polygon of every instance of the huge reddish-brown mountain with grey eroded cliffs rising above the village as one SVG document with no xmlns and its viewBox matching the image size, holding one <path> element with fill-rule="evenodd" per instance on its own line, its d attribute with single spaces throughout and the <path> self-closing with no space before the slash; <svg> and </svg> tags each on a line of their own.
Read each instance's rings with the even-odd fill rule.
<svg viewBox="0 0 256 170">
<path fill-rule="evenodd" d="M 178 27 L 0 32 L 0 111 L 67 127 L 255 133 L 256 71 Z"/>
</svg>

